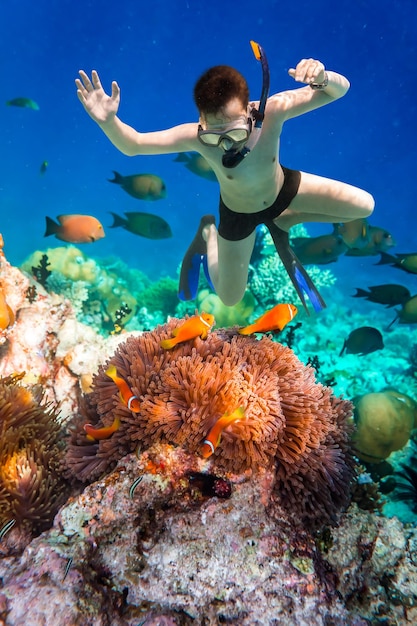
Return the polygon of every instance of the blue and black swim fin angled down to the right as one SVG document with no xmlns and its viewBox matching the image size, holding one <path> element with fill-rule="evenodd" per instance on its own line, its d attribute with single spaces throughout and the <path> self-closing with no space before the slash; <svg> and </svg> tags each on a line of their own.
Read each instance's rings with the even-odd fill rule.
<svg viewBox="0 0 417 626">
<path fill-rule="evenodd" d="M 281 228 L 278 228 L 278 226 L 272 221 L 266 222 L 265 225 L 271 233 L 278 255 L 287 270 L 288 276 L 290 277 L 298 293 L 298 297 L 307 311 L 307 314 L 309 315 L 309 311 L 304 294 L 308 296 L 316 312 L 324 309 L 326 303 L 318 292 L 318 289 L 311 280 L 310 276 L 304 269 L 300 259 L 291 248 L 288 233 Z"/>
</svg>

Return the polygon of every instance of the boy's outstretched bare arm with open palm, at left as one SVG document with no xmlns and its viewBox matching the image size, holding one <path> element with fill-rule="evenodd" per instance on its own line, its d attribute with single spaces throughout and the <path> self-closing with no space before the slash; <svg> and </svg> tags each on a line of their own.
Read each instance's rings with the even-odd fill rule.
<svg viewBox="0 0 417 626">
<path fill-rule="evenodd" d="M 181 124 L 167 130 L 151 133 L 139 133 L 117 117 L 120 103 L 119 85 L 112 82 L 109 96 L 104 91 L 95 70 L 91 81 L 80 70 L 81 79 L 75 81 L 77 96 L 88 115 L 100 126 L 104 134 L 123 154 L 168 154 L 195 150 L 197 142 L 197 124 Z"/>
</svg>

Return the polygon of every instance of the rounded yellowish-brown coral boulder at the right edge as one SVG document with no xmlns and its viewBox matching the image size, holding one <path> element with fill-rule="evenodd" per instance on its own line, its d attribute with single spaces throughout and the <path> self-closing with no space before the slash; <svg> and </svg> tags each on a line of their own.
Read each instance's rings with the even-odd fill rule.
<svg viewBox="0 0 417 626">
<path fill-rule="evenodd" d="M 405 446 L 417 417 L 417 405 L 412 398 L 395 389 L 386 389 L 355 398 L 354 405 L 353 441 L 360 459 L 379 463 Z"/>
</svg>

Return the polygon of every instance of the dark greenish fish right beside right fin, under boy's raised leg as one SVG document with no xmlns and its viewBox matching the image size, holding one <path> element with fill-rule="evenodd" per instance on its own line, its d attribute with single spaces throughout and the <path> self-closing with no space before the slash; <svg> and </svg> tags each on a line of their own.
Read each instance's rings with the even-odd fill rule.
<svg viewBox="0 0 417 626">
<path fill-rule="evenodd" d="M 304 265 L 325 265 L 337 261 L 346 252 L 347 245 L 342 237 L 330 233 L 318 237 L 294 237 L 291 248 Z"/>
</svg>

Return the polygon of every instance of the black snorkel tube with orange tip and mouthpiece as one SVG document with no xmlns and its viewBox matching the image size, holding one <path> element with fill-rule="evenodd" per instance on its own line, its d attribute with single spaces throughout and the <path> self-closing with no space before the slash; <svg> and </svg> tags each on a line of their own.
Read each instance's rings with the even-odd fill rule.
<svg viewBox="0 0 417 626">
<path fill-rule="evenodd" d="M 252 132 L 250 134 L 249 140 L 247 144 L 240 150 L 236 152 L 235 150 L 230 150 L 225 152 L 222 158 L 222 163 L 224 167 L 236 167 L 239 165 L 249 154 L 249 152 L 256 146 L 258 139 L 261 135 L 262 123 L 265 115 L 265 107 L 266 101 L 268 100 L 269 95 L 269 65 L 268 60 L 266 58 L 266 54 L 263 51 L 262 46 L 260 46 L 256 41 L 250 42 L 252 46 L 252 52 L 255 55 L 255 59 L 260 61 L 262 64 L 262 92 L 261 98 L 259 100 L 259 109 L 252 109 L 251 115 L 255 119 L 255 124 L 253 125 Z"/>
</svg>

